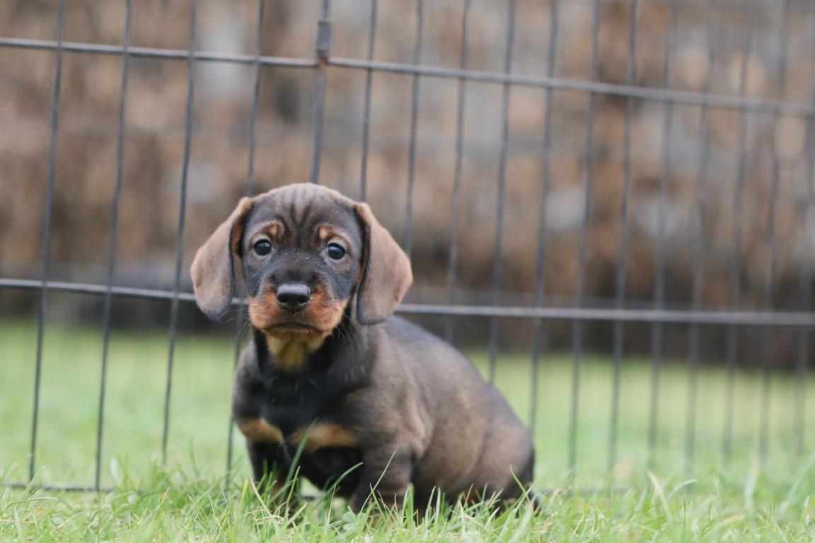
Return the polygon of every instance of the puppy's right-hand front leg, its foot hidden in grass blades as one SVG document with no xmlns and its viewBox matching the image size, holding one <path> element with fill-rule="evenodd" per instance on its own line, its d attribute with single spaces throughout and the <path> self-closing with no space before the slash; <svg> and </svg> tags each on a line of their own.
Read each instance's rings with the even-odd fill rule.
<svg viewBox="0 0 815 543">
<path fill-rule="evenodd" d="M 398 447 L 381 447 L 363 451 L 362 474 L 350 500 L 355 513 L 375 499 L 387 507 L 402 507 L 413 471 L 412 454 Z"/>
</svg>

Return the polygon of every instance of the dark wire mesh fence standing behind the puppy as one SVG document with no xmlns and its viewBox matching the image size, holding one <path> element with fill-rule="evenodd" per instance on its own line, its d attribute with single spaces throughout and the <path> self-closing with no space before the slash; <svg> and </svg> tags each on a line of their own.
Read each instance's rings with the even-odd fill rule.
<svg viewBox="0 0 815 543">
<path fill-rule="evenodd" d="M 444 322 L 444 335 L 448 340 L 452 340 L 453 317 L 482 317 L 488 320 L 489 324 L 489 365 L 488 377 L 493 381 L 496 376 L 496 358 L 498 350 L 498 324 L 500 319 L 531 319 L 532 321 L 532 349 L 531 349 L 531 430 L 535 432 L 537 405 L 538 405 L 538 375 L 540 363 L 544 351 L 544 327 L 543 322 L 547 320 L 566 321 L 571 323 L 571 340 L 573 357 L 571 361 L 571 413 L 568 428 L 568 458 L 566 463 L 574 474 L 577 463 L 577 446 L 579 442 L 579 392 L 580 373 L 584 348 L 584 325 L 587 322 L 611 322 L 614 323 L 614 366 L 611 379 L 611 404 L 610 423 L 608 437 L 608 466 L 611 470 L 617 458 L 617 440 L 619 427 L 619 402 L 620 383 L 622 380 L 623 345 L 624 345 L 624 325 L 630 322 L 648 323 L 651 325 L 651 390 L 650 390 L 650 422 L 648 428 L 647 443 L 650 460 L 654 459 L 657 444 L 657 432 L 659 422 L 659 379 L 660 366 L 663 357 L 663 327 L 669 324 L 689 325 L 688 332 L 688 381 L 687 381 L 687 401 L 688 409 L 685 421 L 685 461 L 690 469 L 693 465 L 695 453 L 695 419 L 696 419 L 696 388 L 697 369 L 700 360 L 700 336 L 702 326 L 726 326 L 728 331 L 727 356 L 726 356 L 726 382 L 725 393 L 725 423 L 721 434 L 722 449 L 725 458 L 729 458 L 732 449 L 733 434 L 733 409 L 734 409 L 734 374 L 736 360 L 738 358 L 739 331 L 743 326 L 754 326 L 760 329 L 763 334 L 762 344 L 763 360 L 763 388 L 760 402 L 756 402 L 760 409 L 760 456 L 764 458 L 767 454 L 769 441 L 769 400 L 771 392 L 772 378 L 772 357 L 773 357 L 773 333 L 779 329 L 791 329 L 796 332 L 797 358 L 795 372 L 799 378 L 799 387 L 795 391 L 795 429 L 796 448 L 800 451 L 804 449 L 804 427 L 806 424 L 806 389 L 805 381 L 808 377 L 808 338 L 811 331 L 815 330 L 815 313 L 810 307 L 811 284 L 809 278 L 812 277 L 812 265 L 806 258 L 802 259 L 799 275 L 800 307 L 797 311 L 776 311 L 773 309 L 774 278 L 776 276 L 777 263 L 777 237 L 776 215 L 778 213 L 778 185 L 781 169 L 781 159 L 778 149 L 773 148 L 773 169 L 772 169 L 772 204 L 770 208 L 769 231 L 767 233 L 769 243 L 768 272 L 764 283 L 763 307 L 764 309 L 742 310 L 739 308 L 739 295 L 741 289 L 742 276 L 742 255 L 741 255 L 741 230 L 742 230 L 742 193 L 747 170 L 747 133 L 748 120 L 751 114 L 767 114 L 773 116 L 773 122 L 778 123 L 781 116 L 802 117 L 808 120 L 806 134 L 806 165 L 807 165 L 807 208 L 802 211 L 802 227 L 804 230 L 813 228 L 815 217 L 811 202 L 813 200 L 813 170 L 815 170 L 815 151 L 813 151 L 813 120 L 815 120 L 815 99 L 813 103 L 795 103 L 784 100 L 784 82 L 786 81 L 786 43 L 782 52 L 781 66 L 778 77 L 781 90 L 776 99 L 755 99 L 747 97 L 747 69 L 750 62 L 751 47 L 755 21 L 755 12 L 758 0 L 746 0 L 737 5 L 744 11 L 747 22 L 747 33 L 743 37 L 742 59 L 740 63 L 740 79 L 737 95 L 711 94 L 711 81 L 714 77 L 712 68 L 713 41 L 715 24 L 711 20 L 707 23 L 707 55 L 708 66 L 705 76 L 703 92 L 673 90 L 671 57 L 676 52 L 676 2 L 668 0 L 670 14 L 668 15 L 668 35 L 665 42 L 665 66 L 663 73 L 663 88 L 650 88 L 636 85 L 637 81 L 637 25 L 638 25 L 638 0 L 632 0 L 631 13 L 629 19 L 628 36 L 628 68 L 625 84 L 604 83 L 597 80 L 597 47 L 599 37 L 600 20 L 600 0 L 593 0 L 592 3 L 592 35 L 591 53 L 588 62 L 588 74 L 586 80 L 566 79 L 556 77 L 555 61 L 557 58 L 557 32 L 558 32 L 558 0 L 550 0 L 551 26 L 549 28 L 548 54 L 544 76 L 522 75 L 513 73 L 513 46 L 515 44 L 515 17 L 516 2 L 510 0 L 506 11 L 506 28 L 504 36 L 504 63 L 500 72 L 487 72 L 468 68 L 467 45 L 468 45 L 468 20 L 471 0 L 462 1 L 462 15 L 460 20 L 460 59 L 457 68 L 447 68 L 442 66 L 430 66 L 421 63 L 423 46 L 423 0 L 416 0 L 416 28 L 415 42 L 413 44 L 413 62 L 399 63 L 374 59 L 374 44 L 377 35 L 377 0 L 370 0 L 369 26 L 368 26 L 368 49 L 365 59 L 343 58 L 331 55 L 332 23 L 330 19 L 330 0 L 321 0 L 319 20 L 317 21 L 317 33 L 315 42 L 315 57 L 313 59 L 302 59 L 285 56 L 262 55 L 262 28 L 264 19 L 264 3 L 266 0 L 258 0 L 258 22 L 255 33 L 256 50 L 254 55 L 242 55 L 221 53 L 214 51 L 202 51 L 197 49 L 196 43 L 196 0 L 192 0 L 192 9 L 189 18 L 189 46 L 187 50 L 177 50 L 170 48 L 140 47 L 130 44 L 130 26 L 132 18 L 132 0 L 126 1 L 126 24 L 124 40 L 121 46 L 104 45 L 87 42 L 65 42 L 64 22 L 65 22 L 65 0 L 59 1 L 57 10 L 57 28 L 55 40 L 40 40 L 16 37 L 0 37 L 0 48 L 13 48 L 19 50 L 44 50 L 55 53 L 55 76 L 54 89 L 51 103 L 51 138 L 48 154 L 48 169 L 46 177 L 46 193 L 43 207 L 43 238 L 42 238 L 42 269 L 41 278 L 0 278 L 0 289 L 20 289 L 25 291 L 39 292 L 39 305 L 37 313 L 37 355 L 35 366 L 35 379 L 33 391 L 33 418 L 31 427 L 31 444 L 29 458 L 29 482 L 26 483 L 4 483 L 11 488 L 42 488 L 55 491 L 77 491 L 77 492 L 108 492 L 112 488 L 101 484 L 101 462 L 104 444 L 104 407 L 107 383 L 108 350 L 111 335 L 111 313 L 112 304 L 115 298 L 139 298 L 144 300 L 165 300 L 170 302 L 170 330 L 168 360 L 166 367 L 165 398 L 163 410 L 163 426 L 161 440 L 161 458 L 166 461 L 169 427 L 170 427 L 170 401 L 173 383 L 174 352 L 178 329 L 178 311 L 181 303 L 194 303 L 195 297 L 192 292 L 183 291 L 183 242 L 185 233 L 185 216 L 187 206 L 187 178 L 191 160 L 191 148 L 194 139 L 194 98 L 196 82 L 196 63 L 232 63 L 253 67 L 253 99 L 252 99 L 252 119 L 249 126 L 249 164 L 246 177 L 246 194 L 253 194 L 253 174 L 255 168 L 255 152 L 257 147 L 257 123 L 258 123 L 258 101 L 260 96 L 260 80 L 262 67 L 277 68 L 306 68 L 314 71 L 314 95 L 311 103 L 311 119 L 313 133 L 313 149 L 311 152 L 311 182 L 320 181 L 320 164 L 323 151 L 324 116 L 326 101 L 326 80 L 328 68 L 343 68 L 350 70 L 363 70 L 365 72 L 365 95 L 364 95 L 364 118 L 362 133 L 362 150 L 359 177 L 360 199 L 365 199 L 368 185 L 368 151 L 370 142 L 370 116 L 372 110 L 372 77 L 374 73 L 394 73 L 412 77 L 412 94 L 410 109 L 410 137 L 408 163 L 407 163 L 407 195 L 405 199 L 406 221 L 403 231 L 403 248 L 408 253 L 412 248 L 412 221 L 413 221 L 413 197 L 416 184 L 416 155 L 418 138 L 418 120 L 421 98 L 421 81 L 424 77 L 446 78 L 456 80 L 457 103 L 456 103 L 456 160 L 452 178 L 452 216 L 449 225 L 450 242 L 447 256 L 446 271 L 446 304 L 402 304 L 397 313 L 430 315 L 446 317 Z M 790 0 L 784 0 L 779 5 L 778 10 L 782 19 L 781 41 L 784 42 L 784 30 L 790 17 Z M 51 221 L 53 219 L 54 207 L 54 186 L 55 186 L 55 161 L 57 152 L 57 140 L 59 133 L 59 97 L 60 83 L 62 78 L 62 63 L 64 53 L 88 54 L 88 55 L 115 55 L 122 59 L 121 68 L 121 99 L 118 110 L 117 125 L 117 163 L 116 178 L 112 196 L 112 222 L 110 226 L 110 241 L 108 246 L 108 266 L 106 282 L 96 284 L 89 282 L 60 282 L 49 280 L 51 260 Z M 125 146 L 126 131 L 126 107 L 127 107 L 127 86 L 129 59 L 175 59 L 183 60 L 187 63 L 187 104 L 184 134 L 183 170 L 179 183 L 179 207 L 178 226 L 176 230 L 177 245 L 175 253 L 174 281 L 171 290 L 161 288 L 124 287 L 114 284 L 117 252 L 117 226 L 118 213 L 121 196 L 123 155 Z M 456 279 L 458 274 L 459 252 L 459 220 L 462 192 L 462 169 L 464 161 L 465 147 L 465 107 L 467 98 L 467 83 L 482 82 L 502 85 L 501 94 L 501 121 L 500 121 L 500 154 L 498 164 L 498 178 L 496 180 L 496 230 L 494 239 L 494 254 L 492 259 L 492 282 L 491 282 L 491 304 L 472 305 L 454 304 Z M 543 147 L 541 148 L 541 173 L 540 173 L 540 223 L 538 225 L 538 239 L 536 240 L 535 259 L 535 288 L 531 296 L 531 306 L 512 306 L 500 304 L 501 297 L 501 271 L 502 271 L 502 240 L 504 235 L 504 206 L 505 206 L 505 185 L 507 182 L 507 162 L 509 154 L 509 111 L 510 94 L 516 87 L 540 88 L 544 94 L 544 134 Z M 544 261 L 546 256 L 546 212 L 548 204 L 548 191 L 552 186 L 549 170 L 549 155 L 552 150 L 552 113 L 553 91 L 567 90 L 584 92 L 586 94 L 586 112 L 584 118 L 585 141 L 583 149 L 583 160 L 585 169 L 581 181 L 581 220 L 579 226 L 579 262 L 577 268 L 577 287 L 574 307 L 553 307 L 545 303 L 544 293 Z M 588 266 L 588 235 L 590 230 L 592 191 L 593 191 L 593 123 L 595 99 L 597 95 L 616 96 L 625 99 L 624 116 L 624 142 L 622 160 L 622 186 L 619 212 L 619 245 L 616 247 L 618 255 L 618 268 L 615 274 L 615 296 L 611 307 L 593 307 L 585 300 L 585 283 Z M 626 302 L 626 274 L 627 274 L 627 253 L 630 232 L 630 198 L 632 190 L 632 112 L 636 100 L 650 100 L 661 103 L 663 107 L 664 123 L 662 126 L 662 162 L 659 173 L 659 235 L 656 242 L 655 258 L 655 283 L 653 300 L 647 308 L 627 307 Z M 668 308 L 665 304 L 665 281 L 666 281 L 666 247 L 664 247 L 665 232 L 665 208 L 667 198 L 670 194 L 670 173 L 672 164 L 670 162 L 670 151 L 672 150 L 672 116 L 676 105 L 690 105 L 701 107 L 701 137 L 703 140 L 703 152 L 701 164 L 696 175 L 695 207 L 694 207 L 694 252 L 693 252 L 693 284 L 692 301 L 689 309 Z M 728 309 L 713 310 L 701 309 L 701 292 L 703 281 L 703 226 L 705 221 L 705 208 L 703 204 L 703 187 L 707 183 L 708 174 L 708 122 L 707 116 L 711 108 L 722 108 L 736 110 L 740 115 L 738 128 L 738 178 L 733 194 L 733 217 L 732 230 L 733 238 L 731 251 L 729 254 L 729 304 Z M 805 247 L 803 247 L 805 250 Z M 95 448 L 95 481 L 92 485 L 61 485 L 61 484 L 34 484 L 36 458 L 37 458 L 37 424 L 39 418 L 39 398 L 40 383 L 42 375 L 42 351 L 43 335 L 46 322 L 46 295 L 50 291 L 72 292 L 90 296 L 104 296 L 103 310 L 103 355 L 101 361 L 101 376 L 99 383 L 99 407 L 98 422 L 96 431 Z M 236 322 L 236 361 L 240 356 L 240 346 L 242 339 L 243 321 L 245 319 L 246 300 L 236 297 L 232 300 L 232 305 L 239 309 L 241 318 Z M 227 438 L 227 481 L 229 480 L 232 464 L 232 444 L 234 427 L 229 425 L 229 435 Z M 604 490 L 603 492 L 607 492 Z M 544 491 L 545 493 L 546 491 Z M 591 490 L 584 489 L 584 492 L 591 493 Z"/>
</svg>

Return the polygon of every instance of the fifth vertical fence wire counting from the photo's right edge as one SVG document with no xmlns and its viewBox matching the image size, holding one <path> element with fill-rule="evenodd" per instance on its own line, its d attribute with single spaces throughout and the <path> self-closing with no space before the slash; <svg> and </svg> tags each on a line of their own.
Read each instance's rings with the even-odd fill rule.
<svg viewBox="0 0 815 543">
<path fill-rule="evenodd" d="M 676 0 L 670 0 L 668 6 L 668 28 L 665 37 L 665 65 L 663 68 L 663 88 L 671 88 L 671 53 L 676 39 Z M 671 136 L 673 125 L 673 103 L 663 102 L 663 147 L 662 165 L 659 173 L 659 204 L 657 247 L 654 256 L 654 309 L 665 307 L 665 208 L 671 173 Z M 654 462 L 657 431 L 659 428 L 659 378 L 663 363 L 663 323 L 656 322 L 651 326 L 651 397 L 650 422 L 648 427 L 648 461 Z"/>
</svg>

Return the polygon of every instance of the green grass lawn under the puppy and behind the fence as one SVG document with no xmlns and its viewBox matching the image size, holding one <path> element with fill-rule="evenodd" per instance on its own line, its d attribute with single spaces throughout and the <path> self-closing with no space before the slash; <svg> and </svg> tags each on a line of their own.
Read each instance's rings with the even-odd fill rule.
<svg viewBox="0 0 815 543">
<path fill-rule="evenodd" d="M 92 484 L 99 402 L 101 335 L 88 328 L 46 328 L 36 482 Z M 756 458 L 761 381 L 734 382 L 734 453 L 722 462 L 725 374 L 703 369 L 698 379 L 696 460 L 685 464 L 687 381 L 681 361 L 659 379 L 654 462 L 646 467 L 650 423 L 649 362 L 623 362 L 619 451 L 607 471 L 611 361 L 586 357 L 580 372 L 577 462 L 567 470 L 571 357 L 540 366 L 537 488 L 542 510 L 518 506 L 504 514 L 457 508 L 417 525 L 388 515 L 351 515 L 323 499 L 291 510 L 269 510 L 246 483 L 240 438 L 235 468 L 224 484 L 234 344 L 223 336 L 178 339 L 166 462 L 161 428 L 167 335 L 112 335 L 102 446 L 102 483 L 110 493 L 0 489 L 0 541 L 815 541 L 815 429 L 795 451 L 798 383 L 773 378 L 769 457 Z M 0 322 L 0 479 L 27 480 L 36 327 Z M 472 358 L 483 370 L 482 354 Z M 497 386 L 528 421 L 531 367 L 526 355 L 500 357 Z M 807 383 L 808 397 L 815 386 Z M 236 436 L 237 437 L 237 436 Z M 564 493 L 572 483 L 595 493 Z M 619 492 L 603 489 L 623 488 Z M 376 518 L 376 520 L 372 520 Z M 514 538 L 514 539 L 513 539 Z"/>
</svg>

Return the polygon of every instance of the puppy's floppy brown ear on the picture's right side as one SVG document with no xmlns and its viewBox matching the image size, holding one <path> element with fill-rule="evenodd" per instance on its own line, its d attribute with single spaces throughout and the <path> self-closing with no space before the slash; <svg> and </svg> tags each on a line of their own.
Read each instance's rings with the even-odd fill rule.
<svg viewBox="0 0 815 543">
<path fill-rule="evenodd" d="M 364 243 L 356 317 L 360 324 L 376 324 L 394 313 L 413 282 L 413 273 L 407 255 L 368 204 L 357 204 L 355 211 L 363 226 Z"/>
</svg>

